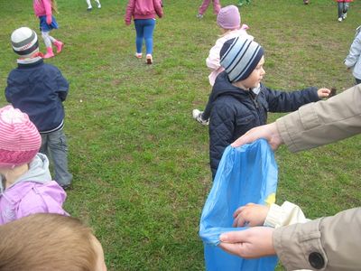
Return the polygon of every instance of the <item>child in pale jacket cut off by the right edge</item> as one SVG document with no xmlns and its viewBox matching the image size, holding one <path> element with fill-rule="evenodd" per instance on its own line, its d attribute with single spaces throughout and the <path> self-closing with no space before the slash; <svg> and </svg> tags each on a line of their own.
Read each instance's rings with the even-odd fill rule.
<svg viewBox="0 0 361 271">
<path fill-rule="evenodd" d="M 345 65 L 347 70 L 352 69 L 356 84 L 361 84 L 361 25 L 356 28 L 355 40 L 351 44 Z"/>
</svg>

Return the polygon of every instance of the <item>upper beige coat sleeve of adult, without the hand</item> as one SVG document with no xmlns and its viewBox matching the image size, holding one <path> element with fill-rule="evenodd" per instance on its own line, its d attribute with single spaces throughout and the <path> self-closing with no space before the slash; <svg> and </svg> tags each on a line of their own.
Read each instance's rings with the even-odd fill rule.
<svg viewBox="0 0 361 271">
<path fill-rule="evenodd" d="M 361 133 L 361 85 L 276 120 L 290 151 L 299 152 Z"/>
</svg>

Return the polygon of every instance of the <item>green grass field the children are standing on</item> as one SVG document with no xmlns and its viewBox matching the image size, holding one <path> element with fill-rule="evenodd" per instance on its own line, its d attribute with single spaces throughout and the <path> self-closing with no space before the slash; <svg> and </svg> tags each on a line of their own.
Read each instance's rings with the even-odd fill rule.
<svg viewBox="0 0 361 271">
<path fill-rule="evenodd" d="M 125 0 L 58 0 L 64 51 L 46 62 L 69 79 L 65 132 L 74 189 L 65 208 L 90 225 L 106 253 L 109 270 L 202 270 L 199 217 L 211 187 L 208 128 L 191 118 L 210 91 L 205 59 L 218 38 L 201 0 L 163 0 L 164 18 L 154 33 L 154 63 L 134 58 L 134 26 L 124 23 Z M 222 5 L 237 0 L 222 0 Z M 15 67 L 12 31 L 38 31 L 31 1 L 0 0 L 0 89 Z M 354 38 L 361 3 L 337 22 L 331 0 L 253 0 L 242 7 L 265 50 L 264 83 L 273 89 L 354 84 L 343 60 Z M 40 38 L 42 51 L 45 51 Z M 0 96 L 0 105 L 5 105 Z M 279 114 L 270 114 L 273 121 Z M 328 135 L 325 135 L 328 136 Z M 291 154 L 277 153 L 277 202 L 299 204 L 313 219 L 360 206 L 361 137 Z M 282 270 L 282 266 L 277 267 Z"/>
</svg>

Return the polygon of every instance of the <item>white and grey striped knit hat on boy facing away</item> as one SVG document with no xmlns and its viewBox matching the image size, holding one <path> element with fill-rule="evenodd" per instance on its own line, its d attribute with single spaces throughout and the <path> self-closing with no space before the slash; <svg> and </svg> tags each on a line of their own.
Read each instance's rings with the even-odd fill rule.
<svg viewBox="0 0 361 271">
<path fill-rule="evenodd" d="M 30 57 L 32 53 L 39 51 L 37 34 L 29 27 L 20 27 L 11 35 L 14 52 L 23 58 Z"/>
</svg>

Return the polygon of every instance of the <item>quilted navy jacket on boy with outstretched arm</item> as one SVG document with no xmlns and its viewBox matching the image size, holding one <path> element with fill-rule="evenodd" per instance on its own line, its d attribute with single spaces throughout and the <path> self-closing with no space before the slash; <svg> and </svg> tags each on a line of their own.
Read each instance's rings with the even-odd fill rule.
<svg viewBox="0 0 361 271">
<path fill-rule="evenodd" d="M 265 125 L 267 112 L 290 112 L 318 101 L 317 90 L 284 92 L 267 89 L 261 84 L 260 92 L 255 95 L 252 90 L 232 85 L 225 71 L 220 73 L 209 97 L 209 159 L 213 178 L 227 145 L 251 128 Z"/>
</svg>

